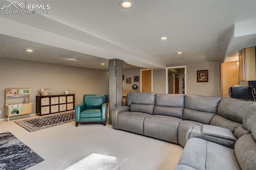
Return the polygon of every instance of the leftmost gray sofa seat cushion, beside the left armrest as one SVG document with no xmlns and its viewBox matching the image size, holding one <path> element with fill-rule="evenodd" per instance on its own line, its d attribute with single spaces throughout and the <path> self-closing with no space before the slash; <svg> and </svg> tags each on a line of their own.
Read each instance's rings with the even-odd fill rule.
<svg viewBox="0 0 256 170">
<path fill-rule="evenodd" d="M 117 116 L 118 128 L 138 134 L 144 134 L 143 123 L 147 116 L 150 115 L 141 112 L 121 112 Z"/>
</svg>

